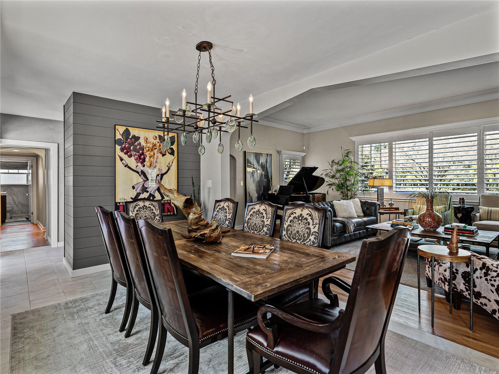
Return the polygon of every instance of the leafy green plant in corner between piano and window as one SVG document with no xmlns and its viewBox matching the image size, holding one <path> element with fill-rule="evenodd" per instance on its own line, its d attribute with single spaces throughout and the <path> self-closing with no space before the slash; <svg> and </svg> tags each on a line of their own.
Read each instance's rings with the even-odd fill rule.
<svg viewBox="0 0 499 374">
<path fill-rule="evenodd" d="M 343 151 L 342 148 L 341 158 L 328 162 L 329 168 L 321 174 L 328 180 L 327 193 L 332 189 L 339 192 L 342 199 L 349 200 L 358 192 L 370 192 L 367 182 L 371 174 L 362 171 L 367 165 L 356 162 L 354 156 L 352 150 Z"/>
</svg>

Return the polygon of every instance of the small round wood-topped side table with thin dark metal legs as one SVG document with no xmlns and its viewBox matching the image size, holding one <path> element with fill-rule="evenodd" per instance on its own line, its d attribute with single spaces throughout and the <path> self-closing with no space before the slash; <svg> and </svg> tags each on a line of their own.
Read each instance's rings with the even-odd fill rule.
<svg viewBox="0 0 499 374">
<path fill-rule="evenodd" d="M 471 252 L 459 249 L 458 253 L 451 253 L 444 245 L 420 245 L 418 247 L 418 310 L 421 313 L 421 280 L 419 256 L 432 260 L 432 328 L 435 319 L 435 260 L 449 261 L 449 313 L 452 314 L 452 264 L 454 262 L 470 263 L 470 330 L 473 331 L 473 257 Z"/>
</svg>

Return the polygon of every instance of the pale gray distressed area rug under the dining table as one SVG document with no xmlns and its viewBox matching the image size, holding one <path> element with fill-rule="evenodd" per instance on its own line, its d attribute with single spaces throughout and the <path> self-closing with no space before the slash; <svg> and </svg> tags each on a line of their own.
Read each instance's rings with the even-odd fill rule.
<svg viewBox="0 0 499 374">
<path fill-rule="evenodd" d="M 143 367 L 142 359 L 150 312 L 139 307 L 133 333 L 125 339 L 118 332 L 124 289 L 119 288 L 111 313 L 104 314 L 108 295 L 102 291 L 12 315 L 10 373 L 149 373 L 151 364 Z M 235 339 L 237 374 L 248 371 L 245 337 L 241 332 Z M 495 373 L 390 331 L 385 351 L 388 373 Z M 188 349 L 169 335 L 159 373 L 180 374 L 187 369 Z M 227 340 L 201 350 L 199 373 L 227 373 Z M 267 373 L 290 374 L 282 368 Z M 374 367 L 368 373 L 374 373 Z"/>
</svg>

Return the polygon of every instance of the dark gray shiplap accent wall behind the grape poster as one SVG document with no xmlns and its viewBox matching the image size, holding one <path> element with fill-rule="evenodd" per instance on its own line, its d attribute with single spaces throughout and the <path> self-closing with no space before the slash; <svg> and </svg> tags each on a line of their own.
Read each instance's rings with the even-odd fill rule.
<svg viewBox="0 0 499 374">
<path fill-rule="evenodd" d="M 73 92 L 64 105 L 64 256 L 73 270 L 107 263 L 95 206 L 114 210 L 115 125 L 155 129 L 161 110 Z M 180 134 L 179 134 L 180 135 Z M 178 146 L 178 190 L 201 181 L 201 156 L 189 137 Z M 166 220 L 182 219 L 179 211 Z"/>
</svg>

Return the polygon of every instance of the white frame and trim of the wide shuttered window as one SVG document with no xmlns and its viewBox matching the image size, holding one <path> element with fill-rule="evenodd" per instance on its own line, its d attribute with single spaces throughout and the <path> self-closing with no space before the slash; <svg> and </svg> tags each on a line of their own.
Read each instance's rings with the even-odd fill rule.
<svg viewBox="0 0 499 374">
<path fill-rule="evenodd" d="M 477 193 L 452 193 L 453 200 L 459 197 L 466 197 L 470 202 L 478 202 L 481 193 L 499 193 L 485 190 L 485 132 L 499 131 L 499 117 L 490 117 L 472 121 L 455 122 L 442 125 L 425 126 L 415 129 L 397 130 L 378 134 L 369 134 L 350 137 L 355 142 L 355 160 L 359 161 L 359 146 L 366 144 L 377 144 L 388 142 L 389 150 L 389 171 L 388 178 L 394 179 L 393 165 L 393 143 L 399 140 L 421 139 L 425 135 L 429 139 L 429 188 L 433 187 L 433 137 L 442 136 L 443 132 L 447 135 L 477 134 Z M 439 134 L 440 133 L 440 134 Z M 395 184 L 395 183 L 394 183 Z M 395 199 L 404 200 L 410 192 L 397 192 L 393 187 L 388 187 L 390 196 Z M 359 193 L 361 196 L 375 198 L 372 194 Z"/>
</svg>

